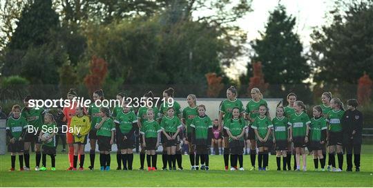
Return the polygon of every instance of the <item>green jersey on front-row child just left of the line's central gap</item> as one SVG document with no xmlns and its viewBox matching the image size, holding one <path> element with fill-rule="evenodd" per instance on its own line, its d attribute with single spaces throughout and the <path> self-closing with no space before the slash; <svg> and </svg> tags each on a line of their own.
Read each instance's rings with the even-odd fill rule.
<svg viewBox="0 0 373 188">
<path fill-rule="evenodd" d="M 207 140 L 209 136 L 209 128 L 212 128 L 212 122 L 209 116 L 205 115 L 195 117 L 191 122 L 191 127 L 195 129 L 195 140 L 200 143 L 200 140 Z"/>
</svg>

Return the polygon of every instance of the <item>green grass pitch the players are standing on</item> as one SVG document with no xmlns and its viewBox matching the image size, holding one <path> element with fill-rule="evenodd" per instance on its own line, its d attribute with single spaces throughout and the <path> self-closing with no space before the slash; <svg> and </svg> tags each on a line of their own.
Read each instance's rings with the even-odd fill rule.
<svg viewBox="0 0 373 188">
<path fill-rule="evenodd" d="M 337 160 L 338 161 L 338 160 Z M 258 163 L 258 160 L 256 160 Z M 78 162 L 79 163 L 79 162 Z M 115 154 L 111 154 L 111 171 L 99 171 L 99 156 L 95 171 L 89 171 L 86 155 L 84 171 L 66 171 L 68 156 L 58 153 L 57 171 L 18 171 L 10 169 L 10 155 L 0 156 L 1 187 L 372 187 L 373 146 L 364 145 L 360 172 L 314 171 L 312 156 L 307 156 L 307 171 L 276 171 L 276 156 L 269 156 L 269 171 L 248 171 L 250 159 L 244 156 L 246 171 L 224 171 L 222 156 L 210 156 L 210 171 L 190 171 L 189 156 L 183 155 L 184 171 L 138 171 L 140 158 L 134 156 L 133 171 L 117 171 Z M 293 159 L 291 159 L 291 165 Z M 337 163 L 338 164 L 338 163 Z M 35 154 L 30 156 L 30 166 L 35 165 Z M 145 161 L 146 166 L 146 161 Z M 158 168 L 162 157 L 158 156 Z M 344 161 L 343 167 L 346 167 Z M 345 170 L 345 169 L 344 169 Z"/>
</svg>

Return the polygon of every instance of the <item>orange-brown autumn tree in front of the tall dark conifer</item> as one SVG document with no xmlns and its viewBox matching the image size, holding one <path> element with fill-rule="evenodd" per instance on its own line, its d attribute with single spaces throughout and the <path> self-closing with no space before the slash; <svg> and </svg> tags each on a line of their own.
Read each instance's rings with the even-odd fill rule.
<svg viewBox="0 0 373 188">
<path fill-rule="evenodd" d="M 259 88 L 264 93 L 268 88 L 268 83 L 265 83 L 264 75 L 262 72 L 262 63 L 253 63 L 253 77 L 250 77 L 249 88 L 247 88 L 247 94 L 250 96 L 252 88 Z"/>
</svg>

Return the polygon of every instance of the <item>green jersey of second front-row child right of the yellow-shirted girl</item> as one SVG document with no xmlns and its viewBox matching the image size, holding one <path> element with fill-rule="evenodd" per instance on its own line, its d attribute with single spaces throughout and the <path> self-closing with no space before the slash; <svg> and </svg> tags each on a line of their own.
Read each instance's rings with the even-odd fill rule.
<svg viewBox="0 0 373 188">
<path fill-rule="evenodd" d="M 133 111 L 124 113 L 124 111 L 119 111 L 117 113 L 117 118 L 114 120 L 115 123 L 119 124 L 119 130 L 121 133 L 129 133 L 132 129 L 132 124 L 137 123 L 137 117 Z"/>
</svg>

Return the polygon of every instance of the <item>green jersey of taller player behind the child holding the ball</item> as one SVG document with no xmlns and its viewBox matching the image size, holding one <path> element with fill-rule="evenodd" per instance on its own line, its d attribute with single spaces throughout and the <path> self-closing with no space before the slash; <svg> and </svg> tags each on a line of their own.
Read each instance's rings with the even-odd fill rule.
<svg viewBox="0 0 373 188">
<path fill-rule="evenodd" d="M 44 124 L 44 114 L 46 111 L 43 108 L 39 109 L 26 109 L 23 108 L 21 116 L 26 119 L 29 125 L 41 129 L 41 126 Z"/>
</svg>

